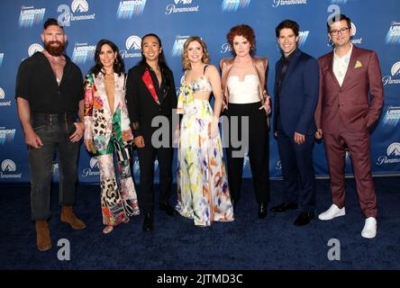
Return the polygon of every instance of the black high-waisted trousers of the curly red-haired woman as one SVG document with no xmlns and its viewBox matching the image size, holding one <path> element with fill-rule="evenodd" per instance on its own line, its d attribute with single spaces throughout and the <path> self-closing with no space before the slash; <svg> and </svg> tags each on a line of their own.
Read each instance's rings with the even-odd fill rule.
<svg viewBox="0 0 400 288">
<path fill-rule="evenodd" d="M 266 203 L 269 200 L 268 154 L 269 139 L 267 114 L 259 110 L 261 103 L 229 103 L 226 112 L 229 120 L 229 145 L 226 149 L 228 158 L 228 182 L 231 197 L 238 202 L 241 197 L 241 176 L 243 160 L 248 151 L 250 169 L 256 200 Z M 241 126 L 248 119 L 249 125 Z M 237 140 L 242 142 L 238 147 Z"/>
</svg>

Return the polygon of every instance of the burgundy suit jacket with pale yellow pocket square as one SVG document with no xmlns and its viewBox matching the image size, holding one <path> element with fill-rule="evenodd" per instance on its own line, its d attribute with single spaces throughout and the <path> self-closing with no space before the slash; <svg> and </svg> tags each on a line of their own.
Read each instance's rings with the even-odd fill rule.
<svg viewBox="0 0 400 288">
<path fill-rule="evenodd" d="M 317 129 L 322 129 L 323 133 L 334 133 L 340 119 L 347 130 L 368 129 L 379 118 L 384 100 L 377 53 L 353 45 L 342 85 L 333 73 L 333 51 L 318 58 L 318 62 L 320 94 L 315 111 Z"/>
</svg>

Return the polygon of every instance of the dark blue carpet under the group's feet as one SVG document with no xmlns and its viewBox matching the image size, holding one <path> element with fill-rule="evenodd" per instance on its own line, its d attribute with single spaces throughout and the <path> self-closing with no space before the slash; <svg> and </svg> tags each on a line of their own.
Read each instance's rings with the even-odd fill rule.
<svg viewBox="0 0 400 288">
<path fill-rule="evenodd" d="M 315 219 L 305 227 L 293 225 L 298 211 L 268 211 L 268 217 L 259 220 L 251 180 L 246 179 L 233 222 L 199 228 L 193 220 L 168 217 L 157 210 L 153 232 L 143 233 L 143 216 L 136 216 L 108 235 L 102 233 L 98 185 L 77 189 L 75 211 L 87 225 L 78 231 L 59 222 L 55 185 L 50 219 L 53 247 L 46 252 L 36 249 L 29 185 L 1 185 L 0 269 L 399 269 L 399 178 L 375 178 L 375 183 L 378 229 L 374 239 L 360 235 L 364 219 L 353 179 L 347 180 L 346 216 L 331 221 Z M 269 207 L 280 202 L 282 186 L 281 181 L 271 181 Z M 318 180 L 316 214 L 330 204 L 329 181 Z M 61 238 L 70 243 L 69 261 L 58 259 Z M 328 258 L 331 238 L 340 241 L 340 261 Z"/>
</svg>

